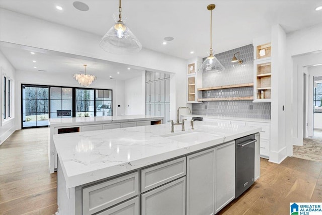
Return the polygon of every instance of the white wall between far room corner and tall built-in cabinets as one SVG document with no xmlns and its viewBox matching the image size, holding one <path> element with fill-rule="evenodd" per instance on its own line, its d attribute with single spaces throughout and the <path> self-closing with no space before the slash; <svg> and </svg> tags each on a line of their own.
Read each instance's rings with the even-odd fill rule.
<svg viewBox="0 0 322 215">
<path fill-rule="evenodd" d="M 145 71 L 142 76 L 125 80 L 125 115 L 145 114 Z"/>
</svg>

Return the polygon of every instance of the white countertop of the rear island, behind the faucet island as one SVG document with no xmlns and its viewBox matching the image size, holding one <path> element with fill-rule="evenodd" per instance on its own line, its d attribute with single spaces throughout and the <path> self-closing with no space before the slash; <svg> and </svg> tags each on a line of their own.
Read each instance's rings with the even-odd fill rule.
<svg viewBox="0 0 322 215">
<path fill-rule="evenodd" d="M 101 123 L 116 123 L 116 122 L 131 122 L 163 119 L 161 116 L 149 115 L 123 115 L 123 116 L 96 116 L 96 117 L 69 117 L 69 118 L 51 118 L 49 124 L 54 126 L 70 126 L 83 124 L 101 124 Z"/>
</svg>

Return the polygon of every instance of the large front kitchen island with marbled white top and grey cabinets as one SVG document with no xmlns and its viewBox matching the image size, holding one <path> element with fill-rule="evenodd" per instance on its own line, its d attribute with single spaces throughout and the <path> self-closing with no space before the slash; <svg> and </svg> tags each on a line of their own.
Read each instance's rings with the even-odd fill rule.
<svg viewBox="0 0 322 215">
<path fill-rule="evenodd" d="M 58 214 L 214 214 L 234 199 L 234 139 L 260 130 L 196 121 L 54 135 Z"/>
</svg>

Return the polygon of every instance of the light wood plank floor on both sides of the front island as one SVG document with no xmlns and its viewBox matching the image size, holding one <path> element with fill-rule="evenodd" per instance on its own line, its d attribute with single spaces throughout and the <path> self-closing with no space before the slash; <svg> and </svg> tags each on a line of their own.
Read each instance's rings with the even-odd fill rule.
<svg viewBox="0 0 322 215">
<path fill-rule="evenodd" d="M 17 130 L 0 146 L 0 214 L 53 214 L 56 174 L 49 174 L 48 128 Z M 261 177 L 218 214 L 289 214 L 290 202 L 322 202 L 322 163 L 261 159 Z M 68 214 L 67 214 L 68 215 Z"/>
</svg>

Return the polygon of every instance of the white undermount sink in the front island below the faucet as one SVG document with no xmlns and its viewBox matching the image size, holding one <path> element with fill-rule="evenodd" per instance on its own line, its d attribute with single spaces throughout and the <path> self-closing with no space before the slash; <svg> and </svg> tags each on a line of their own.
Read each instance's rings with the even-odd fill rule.
<svg viewBox="0 0 322 215">
<path fill-rule="evenodd" d="M 178 134 L 171 134 L 168 136 L 163 136 L 168 139 L 180 141 L 180 142 L 208 142 L 217 138 L 222 137 L 221 135 L 212 134 L 212 133 L 205 133 L 200 131 L 193 131 L 188 133 L 178 133 Z"/>
</svg>

